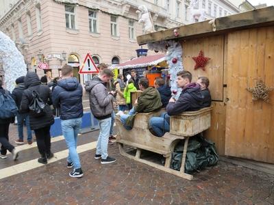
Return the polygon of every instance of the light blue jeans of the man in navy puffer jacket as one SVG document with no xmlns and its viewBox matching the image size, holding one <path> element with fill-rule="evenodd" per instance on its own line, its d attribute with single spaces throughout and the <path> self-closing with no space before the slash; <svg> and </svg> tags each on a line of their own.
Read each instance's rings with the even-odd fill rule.
<svg viewBox="0 0 274 205">
<path fill-rule="evenodd" d="M 81 168 L 77 148 L 77 135 L 81 128 L 82 118 L 75 118 L 70 120 L 61 120 L 62 132 L 64 139 L 66 139 L 66 146 L 69 148 L 69 156 L 66 159 L 69 163 L 73 162 L 75 169 Z"/>
</svg>

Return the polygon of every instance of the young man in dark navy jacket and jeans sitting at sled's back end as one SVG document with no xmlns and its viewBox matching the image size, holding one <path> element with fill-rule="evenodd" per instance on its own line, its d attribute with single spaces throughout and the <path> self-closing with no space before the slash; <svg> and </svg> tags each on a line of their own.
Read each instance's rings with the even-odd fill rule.
<svg viewBox="0 0 274 205">
<path fill-rule="evenodd" d="M 177 73 L 177 86 L 182 87 L 182 93 L 178 100 L 171 98 L 166 105 L 166 112 L 160 117 L 153 117 L 149 120 L 149 128 L 157 137 L 162 137 L 169 132 L 169 116 L 177 115 L 184 111 L 197 111 L 203 107 L 203 96 L 198 83 L 191 83 L 192 74 L 182 70 Z"/>
</svg>

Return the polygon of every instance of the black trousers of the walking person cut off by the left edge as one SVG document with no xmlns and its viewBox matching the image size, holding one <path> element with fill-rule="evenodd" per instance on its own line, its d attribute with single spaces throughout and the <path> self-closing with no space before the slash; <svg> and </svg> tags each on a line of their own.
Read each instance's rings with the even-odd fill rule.
<svg viewBox="0 0 274 205">
<path fill-rule="evenodd" d="M 10 122 L 6 124 L 0 124 L 0 143 L 1 143 L 1 154 L 7 154 L 7 150 L 12 152 L 14 146 L 10 144 L 8 141 L 8 129 L 10 126 Z"/>
</svg>

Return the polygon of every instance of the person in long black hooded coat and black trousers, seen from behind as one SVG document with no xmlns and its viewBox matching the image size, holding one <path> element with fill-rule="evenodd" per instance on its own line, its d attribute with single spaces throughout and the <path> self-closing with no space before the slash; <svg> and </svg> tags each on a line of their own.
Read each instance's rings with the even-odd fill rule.
<svg viewBox="0 0 274 205">
<path fill-rule="evenodd" d="M 25 88 L 21 101 L 21 111 L 29 112 L 29 124 L 36 135 L 38 150 L 41 157 L 39 163 L 47 164 L 47 159 L 53 157 L 51 153 L 51 135 L 49 130 L 54 123 L 53 113 L 49 107 L 51 102 L 51 90 L 47 85 L 41 85 L 40 79 L 35 72 L 27 72 L 25 77 Z M 32 102 L 33 91 L 38 93 L 39 97 L 46 104 L 44 115 L 37 115 L 34 111 L 29 111 L 29 103 Z"/>
</svg>

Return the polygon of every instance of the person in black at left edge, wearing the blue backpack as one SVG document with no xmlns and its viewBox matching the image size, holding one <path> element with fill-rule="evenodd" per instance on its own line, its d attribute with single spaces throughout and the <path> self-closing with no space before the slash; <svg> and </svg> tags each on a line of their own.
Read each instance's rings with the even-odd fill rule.
<svg viewBox="0 0 274 205">
<path fill-rule="evenodd" d="M 0 95 L 2 94 L 8 94 L 11 96 L 10 92 L 3 89 L 2 81 L 0 80 Z M 15 102 L 14 102 L 14 105 L 15 105 Z M 3 108 L 0 107 L 0 109 L 3 109 Z M 9 132 L 9 127 L 11 122 L 14 122 L 14 118 L 4 118 L 4 119 L 0 118 L 0 143 L 1 143 L 0 158 L 1 159 L 7 158 L 6 156 L 7 150 L 9 150 L 12 153 L 14 160 L 16 160 L 18 157 L 18 151 L 9 142 L 8 132 Z"/>
</svg>

